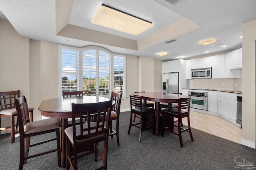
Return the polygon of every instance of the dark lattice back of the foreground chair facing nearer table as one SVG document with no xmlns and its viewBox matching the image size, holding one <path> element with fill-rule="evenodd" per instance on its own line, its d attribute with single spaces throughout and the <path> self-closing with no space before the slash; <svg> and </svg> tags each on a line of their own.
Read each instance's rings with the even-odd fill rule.
<svg viewBox="0 0 256 170">
<path fill-rule="evenodd" d="M 76 145 L 78 140 L 92 139 L 94 140 L 94 143 L 104 141 L 109 133 L 108 131 L 111 109 L 112 100 L 94 104 L 72 103 L 72 127 L 74 145 Z M 76 117 L 79 117 L 80 120 L 87 120 L 87 126 L 85 126 L 84 122 L 80 121 L 80 128 L 78 128 L 79 131 L 76 130 Z M 92 117 L 94 117 L 94 122 L 90 121 Z M 100 117 L 103 117 L 103 119 Z"/>
</svg>

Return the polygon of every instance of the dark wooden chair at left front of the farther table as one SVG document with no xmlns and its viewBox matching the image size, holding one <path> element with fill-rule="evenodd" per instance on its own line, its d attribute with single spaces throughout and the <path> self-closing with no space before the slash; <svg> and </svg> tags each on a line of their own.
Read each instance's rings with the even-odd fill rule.
<svg viewBox="0 0 256 170">
<path fill-rule="evenodd" d="M 128 129 L 128 135 L 130 134 L 131 127 L 137 127 L 140 129 L 139 141 L 141 141 L 142 131 L 146 131 L 150 128 L 153 129 L 153 135 L 155 134 L 155 109 L 142 105 L 142 97 L 130 95 L 130 124 Z M 140 123 L 132 122 L 132 114 L 139 115 Z M 146 121 L 146 119 L 150 121 Z M 138 126 L 140 124 L 140 126 Z"/>
</svg>

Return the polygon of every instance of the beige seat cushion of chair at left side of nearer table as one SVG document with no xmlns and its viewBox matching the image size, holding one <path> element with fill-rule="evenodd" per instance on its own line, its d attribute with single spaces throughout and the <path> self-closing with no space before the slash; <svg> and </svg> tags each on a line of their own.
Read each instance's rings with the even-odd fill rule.
<svg viewBox="0 0 256 170">
<path fill-rule="evenodd" d="M 49 118 L 29 123 L 24 129 L 25 134 L 47 131 L 61 127 L 60 119 Z"/>
</svg>

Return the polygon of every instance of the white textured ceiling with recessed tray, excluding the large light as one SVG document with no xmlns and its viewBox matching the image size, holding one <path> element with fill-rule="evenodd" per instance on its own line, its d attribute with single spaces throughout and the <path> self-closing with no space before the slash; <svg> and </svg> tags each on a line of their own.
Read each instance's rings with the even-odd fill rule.
<svg viewBox="0 0 256 170">
<path fill-rule="evenodd" d="M 67 2 L 70 5 L 65 6 Z M 154 26 L 133 36 L 94 25 L 90 20 L 101 4 L 148 20 Z M 0 19 L 10 21 L 21 36 L 38 41 L 75 47 L 96 45 L 113 53 L 170 61 L 206 56 L 204 51 L 210 51 L 210 56 L 241 48 L 242 24 L 256 19 L 255 9 L 255 0 L 181 0 L 174 6 L 166 0 L 1 0 Z M 74 35 L 73 28 L 82 34 Z M 58 29 L 62 31 L 56 32 Z M 97 36 L 108 39 L 94 41 Z M 172 38 L 177 41 L 164 43 Z M 228 47 L 198 43 L 208 38 Z M 159 57 L 159 51 L 169 54 Z"/>
</svg>

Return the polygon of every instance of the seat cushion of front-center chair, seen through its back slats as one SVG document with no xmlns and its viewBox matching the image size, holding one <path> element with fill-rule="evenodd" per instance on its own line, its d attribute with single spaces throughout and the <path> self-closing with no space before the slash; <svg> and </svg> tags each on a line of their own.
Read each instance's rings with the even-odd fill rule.
<svg viewBox="0 0 256 170">
<path fill-rule="evenodd" d="M 91 127 L 96 127 L 96 122 L 91 122 L 90 123 Z M 88 123 L 84 123 L 83 124 L 83 128 L 88 128 Z M 74 144 L 74 140 L 73 140 L 73 127 L 68 127 L 66 128 L 65 130 L 65 133 L 68 137 L 68 139 L 70 140 L 70 142 L 72 144 Z M 91 133 L 95 133 L 95 129 L 94 130 L 91 130 Z M 87 135 L 88 134 L 88 131 L 84 131 L 84 135 Z M 79 136 L 80 135 L 80 125 L 76 125 L 76 136 Z M 94 136 L 92 138 L 87 138 L 87 139 L 82 139 L 82 140 L 79 140 L 79 141 L 76 141 L 77 143 L 82 143 L 82 142 L 85 142 L 85 141 L 89 141 L 89 140 L 92 140 L 92 139 L 96 139 L 98 137 L 103 137 L 105 134 L 100 134 L 98 136 Z"/>
</svg>

